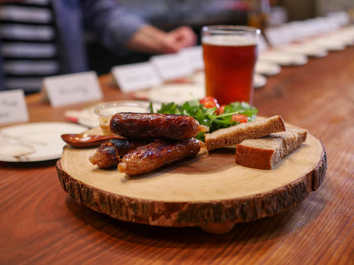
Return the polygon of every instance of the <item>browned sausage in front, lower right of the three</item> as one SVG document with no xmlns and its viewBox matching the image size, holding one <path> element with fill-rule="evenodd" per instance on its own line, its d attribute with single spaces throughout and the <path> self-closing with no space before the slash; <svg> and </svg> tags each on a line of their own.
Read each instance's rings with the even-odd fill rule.
<svg viewBox="0 0 354 265">
<path fill-rule="evenodd" d="M 148 173 L 164 165 L 196 155 L 203 142 L 191 138 L 183 141 L 156 141 L 138 147 L 122 158 L 118 164 L 119 172 L 135 176 Z"/>
</svg>

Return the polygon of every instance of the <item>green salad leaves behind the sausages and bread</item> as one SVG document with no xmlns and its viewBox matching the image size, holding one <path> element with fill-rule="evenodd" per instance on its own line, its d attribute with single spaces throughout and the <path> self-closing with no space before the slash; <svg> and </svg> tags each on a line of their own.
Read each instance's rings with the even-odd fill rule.
<svg viewBox="0 0 354 265">
<path fill-rule="evenodd" d="M 149 109 L 150 113 L 155 113 L 152 102 L 150 102 Z M 217 115 L 216 111 L 215 107 L 210 109 L 204 108 L 203 104 L 194 99 L 186 101 L 183 104 L 176 104 L 174 102 L 162 103 L 161 109 L 157 110 L 156 113 L 189 115 L 196 119 L 199 124 L 208 126 L 209 132 L 213 132 L 220 128 L 239 124 L 239 122 L 232 121 L 234 114 L 244 114 L 248 117 L 247 122 L 251 122 L 256 118 L 258 112 L 257 109 L 247 102 L 232 102 L 225 106 L 224 113 L 221 115 Z M 204 133 L 199 133 L 196 138 L 204 141 Z"/>
</svg>

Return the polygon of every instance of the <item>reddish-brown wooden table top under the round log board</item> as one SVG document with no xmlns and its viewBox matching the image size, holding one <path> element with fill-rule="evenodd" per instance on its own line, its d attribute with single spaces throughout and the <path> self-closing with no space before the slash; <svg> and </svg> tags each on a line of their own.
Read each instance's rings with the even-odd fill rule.
<svg viewBox="0 0 354 265">
<path fill-rule="evenodd" d="M 125 223 L 76 204 L 55 161 L 0 164 L 1 264 L 353 264 L 354 47 L 284 67 L 255 91 L 259 115 L 281 114 L 323 141 L 321 187 L 279 215 L 235 225 L 223 235 L 199 228 Z M 106 100 L 128 99 L 110 75 Z M 64 121 L 39 94 L 27 96 L 30 122 Z M 75 105 L 80 109 L 85 104 Z"/>
</svg>

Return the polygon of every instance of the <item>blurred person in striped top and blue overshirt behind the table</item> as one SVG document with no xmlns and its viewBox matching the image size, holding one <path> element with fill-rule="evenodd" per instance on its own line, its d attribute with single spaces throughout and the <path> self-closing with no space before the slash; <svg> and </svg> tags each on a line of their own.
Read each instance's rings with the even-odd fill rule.
<svg viewBox="0 0 354 265">
<path fill-rule="evenodd" d="M 89 70 L 84 30 L 113 52 L 166 54 L 196 44 L 191 28 L 165 32 L 115 0 L 0 0 L 0 90 L 39 90 L 45 76 Z"/>
</svg>

